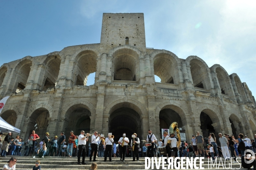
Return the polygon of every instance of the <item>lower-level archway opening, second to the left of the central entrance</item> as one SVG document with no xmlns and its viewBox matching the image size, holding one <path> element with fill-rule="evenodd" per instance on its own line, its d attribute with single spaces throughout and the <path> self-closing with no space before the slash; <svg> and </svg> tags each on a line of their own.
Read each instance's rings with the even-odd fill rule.
<svg viewBox="0 0 256 170">
<path fill-rule="evenodd" d="M 49 125 L 48 118 L 50 117 L 49 111 L 43 107 L 36 109 L 31 116 L 29 117 L 29 124 L 27 129 L 27 134 L 32 133 L 32 130 L 35 130 L 35 125 L 37 125 L 35 133 L 40 137 L 40 141 L 44 138 L 45 133 L 47 131 L 47 127 Z"/>
</svg>

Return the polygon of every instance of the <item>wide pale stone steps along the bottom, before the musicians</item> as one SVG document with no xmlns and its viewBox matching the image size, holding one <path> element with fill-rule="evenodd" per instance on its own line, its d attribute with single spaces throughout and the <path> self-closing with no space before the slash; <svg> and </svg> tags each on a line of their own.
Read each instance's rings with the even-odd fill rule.
<svg viewBox="0 0 256 170">
<path fill-rule="evenodd" d="M 4 164 L 7 164 L 7 161 L 10 159 L 11 156 L 6 156 L 6 158 L 0 157 L 0 169 L 3 167 Z M 85 169 L 89 170 L 91 167 L 91 163 L 89 162 L 89 158 L 85 158 L 86 165 L 77 165 L 77 157 L 53 157 L 53 156 L 45 156 L 44 158 L 32 158 L 31 156 L 17 156 L 17 163 L 16 163 L 16 170 L 32 170 L 32 167 L 35 166 L 35 160 L 41 161 L 41 170 L 80 170 Z M 222 158 L 224 160 L 224 158 Z M 82 161 L 82 158 L 81 158 Z M 125 162 L 121 162 L 120 158 L 112 158 L 113 162 L 103 162 L 104 158 L 97 158 L 97 168 L 99 170 L 141 170 L 145 169 L 145 158 L 140 158 L 140 161 L 132 162 L 132 158 L 125 158 Z M 204 169 L 208 169 L 208 159 L 203 159 L 204 164 L 202 167 Z M 218 163 L 220 158 L 217 159 L 217 167 L 212 167 L 212 170 L 224 170 L 225 167 L 220 166 L 218 168 Z M 232 160 L 233 162 L 233 160 Z M 230 161 L 226 162 L 226 167 L 231 169 Z M 241 164 L 241 160 L 239 160 Z M 224 162 L 223 162 L 224 164 Z M 197 166 L 199 167 L 199 160 L 197 160 Z M 168 167 L 168 164 L 165 166 Z M 186 163 L 184 163 L 184 167 L 186 167 Z M 240 165 L 238 163 L 232 164 L 232 168 L 239 168 Z M 151 167 L 150 167 L 151 169 Z M 156 169 L 156 166 L 154 166 Z M 160 166 L 162 169 L 162 164 Z M 210 164 L 209 164 L 209 169 Z M 241 170 L 245 170 L 241 167 Z"/>
</svg>

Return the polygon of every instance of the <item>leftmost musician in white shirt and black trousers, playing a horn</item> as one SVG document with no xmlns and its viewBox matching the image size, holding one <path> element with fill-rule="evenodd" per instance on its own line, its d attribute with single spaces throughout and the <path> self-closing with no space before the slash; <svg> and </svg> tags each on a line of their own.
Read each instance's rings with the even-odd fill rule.
<svg viewBox="0 0 256 170">
<path fill-rule="evenodd" d="M 77 155 L 77 164 L 86 165 L 85 164 L 85 154 L 86 154 L 86 142 L 88 141 L 88 136 L 85 135 L 85 131 L 81 130 L 81 134 L 78 136 L 78 155 Z M 80 163 L 80 157 L 82 153 L 82 164 Z"/>
</svg>

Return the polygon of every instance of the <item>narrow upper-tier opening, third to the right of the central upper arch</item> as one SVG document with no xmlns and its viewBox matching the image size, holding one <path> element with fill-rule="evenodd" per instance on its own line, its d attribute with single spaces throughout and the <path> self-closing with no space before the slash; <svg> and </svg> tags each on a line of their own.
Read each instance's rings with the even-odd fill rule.
<svg viewBox="0 0 256 170">
<path fill-rule="evenodd" d="M 232 94 L 231 93 L 232 87 L 230 86 L 229 78 L 226 76 L 226 73 L 224 72 L 224 70 L 218 67 L 216 69 L 216 73 L 217 73 L 217 78 L 220 84 L 221 93 L 224 95 Z"/>
</svg>

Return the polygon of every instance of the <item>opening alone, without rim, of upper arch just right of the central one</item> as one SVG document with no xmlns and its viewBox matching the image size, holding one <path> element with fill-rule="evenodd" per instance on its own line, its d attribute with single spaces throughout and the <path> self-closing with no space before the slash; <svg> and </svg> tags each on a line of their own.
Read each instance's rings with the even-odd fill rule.
<svg viewBox="0 0 256 170">
<path fill-rule="evenodd" d="M 154 58 L 154 74 L 162 83 L 177 84 L 176 66 L 175 59 L 169 54 L 161 53 Z"/>
</svg>

